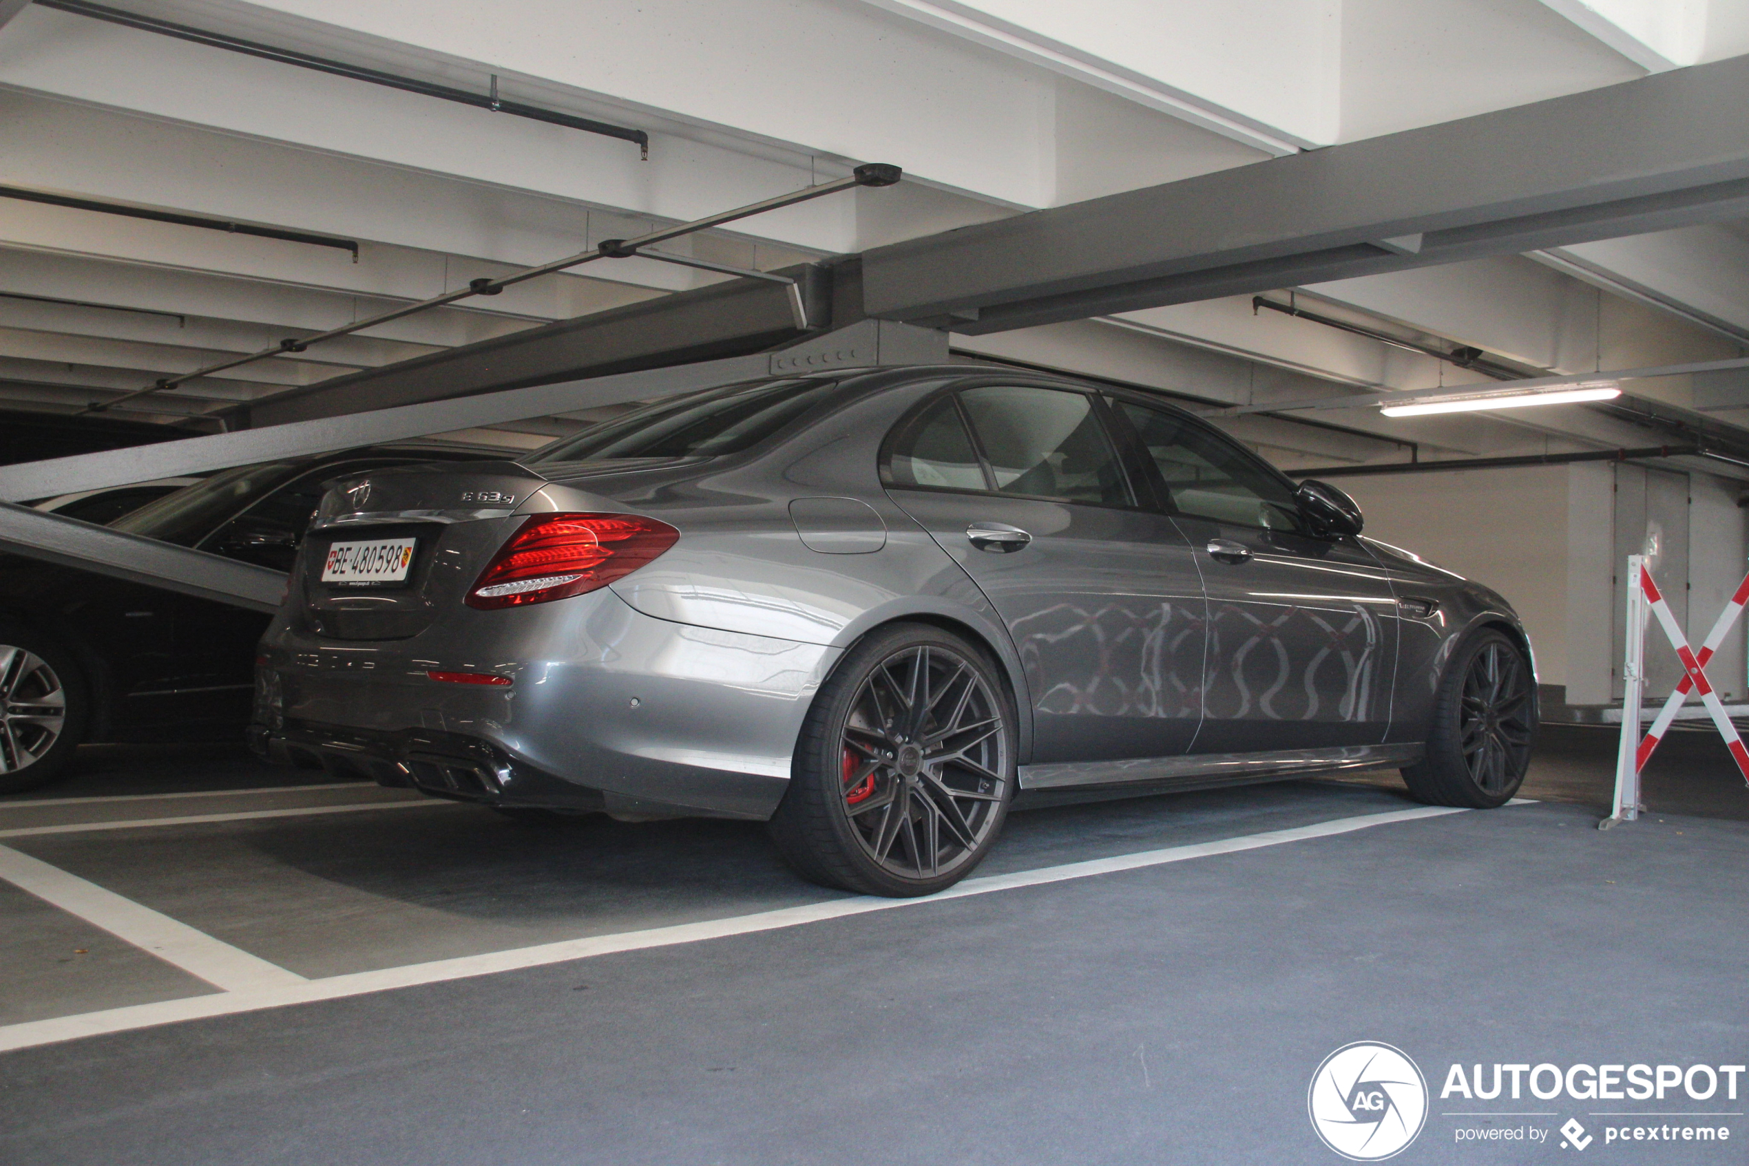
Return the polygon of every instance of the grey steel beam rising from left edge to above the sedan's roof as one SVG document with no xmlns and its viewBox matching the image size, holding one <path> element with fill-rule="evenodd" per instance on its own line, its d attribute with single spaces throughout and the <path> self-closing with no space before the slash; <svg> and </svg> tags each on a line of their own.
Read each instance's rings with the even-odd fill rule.
<svg viewBox="0 0 1749 1166">
<path fill-rule="evenodd" d="M 775 288 L 784 292 L 785 288 Z M 712 385 L 789 372 L 822 372 L 836 367 L 881 364 L 929 364 L 948 357 L 946 336 L 878 320 L 808 337 L 771 353 L 728 357 L 672 369 L 642 369 L 591 379 L 512 388 L 497 393 L 425 400 L 422 404 L 373 409 L 345 416 L 259 430 L 213 434 L 86 453 L 45 462 L 0 467 L 0 500 L 49 498 L 75 489 L 124 486 L 178 474 L 220 470 L 252 462 L 294 458 L 331 449 L 350 449 L 385 441 L 425 437 L 479 425 L 572 413 L 626 400 L 652 400 Z"/>
</svg>

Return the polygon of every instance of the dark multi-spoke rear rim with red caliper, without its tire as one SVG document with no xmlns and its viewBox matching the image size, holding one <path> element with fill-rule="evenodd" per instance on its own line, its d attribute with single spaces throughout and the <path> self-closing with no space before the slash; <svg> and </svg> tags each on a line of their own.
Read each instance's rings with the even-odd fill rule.
<svg viewBox="0 0 1749 1166">
<path fill-rule="evenodd" d="M 843 811 L 862 850 L 902 878 L 937 878 L 979 851 L 1007 794 L 1002 703 L 981 670 L 937 645 L 881 661 L 850 703 Z"/>
</svg>

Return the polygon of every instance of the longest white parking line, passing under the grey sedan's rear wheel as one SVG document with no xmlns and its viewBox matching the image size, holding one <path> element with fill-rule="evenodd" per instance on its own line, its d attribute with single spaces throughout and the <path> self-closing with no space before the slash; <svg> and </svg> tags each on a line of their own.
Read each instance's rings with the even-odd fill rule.
<svg viewBox="0 0 1749 1166">
<path fill-rule="evenodd" d="M 729 935 L 750 935 L 771 932 L 803 923 L 820 923 L 824 920 L 841 920 L 871 911 L 894 911 L 899 907 L 918 907 L 969 895 L 988 895 L 992 892 L 1016 890 L 1021 886 L 1042 886 L 1065 879 L 1083 879 L 1097 874 L 1118 871 L 1137 871 L 1158 867 L 1168 862 L 1188 858 L 1207 858 L 1212 855 L 1231 855 L 1265 846 L 1282 846 L 1313 837 L 1348 834 L 1375 825 L 1394 822 L 1415 822 L 1420 818 L 1439 818 L 1464 809 L 1441 806 L 1418 806 L 1415 809 L 1392 809 L 1387 813 L 1359 815 L 1354 818 L 1336 818 L 1313 825 L 1293 827 L 1287 830 L 1270 830 L 1266 834 L 1247 834 L 1226 837 L 1212 843 L 1193 843 L 1189 846 L 1167 846 L 1163 850 L 1146 850 L 1133 855 L 1116 855 L 1112 858 L 1093 858 L 1088 862 L 1069 862 L 1037 871 L 1016 871 L 1013 874 L 992 874 L 979 879 L 965 879 L 939 895 L 927 899 L 873 899 L 848 897 L 826 902 L 805 904 L 801 907 L 784 907 L 778 911 L 759 911 L 754 914 L 728 920 L 707 920 L 701 923 L 679 923 L 673 927 L 654 927 L 640 932 L 619 932 L 614 935 L 589 935 L 584 939 L 567 939 L 553 944 L 532 947 L 514 947 L 509 951 L 488 951 L 474 956 L 456 956 L 451 960 L 432 960 L 429 963 L 409 963 L 404 967 L 380 968 L 373 972 L 352 972 L 325 979 L 301 981 L 273 988 L 255 988 L 245 991 L 227 991 L 210 996 L 189 996 L 184 1000 L 163 1000 L 157 1003 L 138 1003 L 124 1009 L 107 1009 L 80 1016 L 59 1016 L 44 1021 L 26 1021 L 0 1028 L 0 1052 L 10 1049 L 28 1049 L 33 1045 L 73 1040 L 79 1037 L 96 1037 L 100 1033 L 119 1033 L 154 1024 L 175 1021 L 192 1021 L 212 1016 L 229 1016 L 236 1012 L 254 1012 L 259 1009 L 276 1009 L 290 1003 L 310 1003 L 315 1000 L 338 1000 L 359 996 L 392 988 L 411 988 L 416 984 L 436 984 L 470 975 L 491 975 L 497 972 L 514 972 L 547 963 L 568 960 L 586 960 L 619 951 L 644 951 L 649 947 L 666 947 L 672 944 L 691 944 L 705 939 L 724 939 Z M 269 965 L 271 967 L 271 965 Z"/>
</svg>

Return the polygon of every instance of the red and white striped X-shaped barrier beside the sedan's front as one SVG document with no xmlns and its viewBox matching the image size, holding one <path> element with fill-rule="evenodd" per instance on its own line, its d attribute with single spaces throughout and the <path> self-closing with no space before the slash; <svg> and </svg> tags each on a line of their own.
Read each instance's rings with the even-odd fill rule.
<svg viewBox="0 0 1749 1166">
<path fill-rule="evenodd" d="M 1744 748 L 1742 738 L 1737 736 L 1737 725 L 1732 724 L 1732 718 L 1725 711 L 1719 694 L 1712 691 L 1712 682 L 1707 680 L 1705 671 L 1707 663 L 1712 659 L 1714 652 L 1719 650 L 1719 645 L 1725 643 L 1725 636 L 1730 635 L 1732 628 L 1737 624 L 1737 617 L 1742 615 L 1746 603 L 1749 603 L 1749 575 L 1746 575 L 1737 586 L 1737 594 L 1733 594 L 1732 601 L 1725 605 L 1723 612 L 1719 612 L 1718 621 L 1712 624 L 1712 631 L 1707 633 L 1707 638 L 1697 654 L 1688 647 L 1688 636 L 1676 622 L 1676 614 L 1670 612 L 1670 605 L 1663 601 L 1658 584 L 1653 582 L 1651 572 L 1646 568 L 1646 556 L 1628 556 L 1628 643 L 1627 659 L 1623 661 L 1621 670 L 1621 675 L 1627 680 L 1621 701 L 1621 746 L 1616 752 L 1614 808 L 1611 809 L 1609 818 L 1600 823 L 1602 829 L 1607 829 L 1616 822 L 1632 822 L 1639 816 L 1639 811 L 1642 809 L 1639 774 L 1646 769 L 1646 762 L 1651 760 L 1651 753 L 1658 748 L 1658 741 L 1662 741 L 1663 734 L 1670 731 L 1670 724 L 1676 722 L 1676 713 L 1683 708 L 1683 701 L 1688 699 L 1690 692 L 1700 694 L 1700 703 L 1712 717 L 1712 724 L 1718 725 L 1719 736 L 1725 738 L 1725 746 L 1737 760 L 1737 769 L 1742 771 L 1744 781 L 1749 781 L 1749 748 Z M 1648 612 L 1658 619 L 1658 626 L 1663 628 L 1665 638 L 1670 640 L 1670 647 L 1676 649 L 1677 659 L 1683 661 L 1683 680 L 1676 685 L 1676 691 L 1670 692 L 1669 699 L 1665 699 L 1658 717 L 1651 722 L 1651 729 L 1644 738 L 1641 738 L 1641 701 L 1646 692 L 1644 649 Z"/>
</svg>

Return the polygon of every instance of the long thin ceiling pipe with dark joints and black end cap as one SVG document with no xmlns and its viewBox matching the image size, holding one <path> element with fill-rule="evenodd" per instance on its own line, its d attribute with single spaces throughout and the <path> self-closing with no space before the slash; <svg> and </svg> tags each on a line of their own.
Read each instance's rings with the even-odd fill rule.
<svg viewBox="0 0 1749 1166">
<path fill-rule="evenodd" d="M 59 0 L 56 0 L 59 2 Z M 198 376 L 210 376 L 213 372 L 224 372 L 226 369 L 236 369 L 238 365 L 252 364 L 255 360 L 268 360 L 269 357 L 280 357 L 289 351 L 304 351 L 311 344 L 320 344 L 322 341 L 334 339 L 336 336 L 350 336 L 378 323 L 388 323 L 390 320 L 401 320 L 402 316 L 411 316 L 420 311 L 429 311 L 432 308 L 442 308 L 470 295 L 497 295 L 507 287 L 523 283 L 525 280 L 533 280 L 535 276 L 553 274 L 554 271 L 565 271 L 567 267 L 577 267 L 581 264 L 595 262 L 596 259 L 631 259 L 638 253 L 640 246 L 649 246 L 652 243 L 661 243 L 665 239 L 677 239 L 682 234 L 693 234 L 694 231 L 705 231 L 707 227 L 715 227 L 724 222 L 735 222 L 736 219 L 747 219 L 749 215 L 759 215 L 768 210 L 777 210 L 780 206 L 794 206 L 796 203 L 806 203 L 826 194 L 836 194 L 840 191 L 848 191 L 852 187 L 890 187 L 899 182 L 902 171 L 897 166 L 888 166 L 885 163 L 866 163 L 857 166 L 848 178 L 834 178 L 833 182 L 822 182 L 819 185 L 803 187 L 801 191 L 792 191 L 789 194 L 778 194 L 777 198 L 761 199 L 757 203 L 749 203 L 747 206 L 736 206 L 735 210 L 726 210 L 705 219 L 694 219 L 693 222 L 682 222 L 672 227 L 659 227 L 647 234 L 640 234 L 633 239 L 605 239 L 598 246 L 588 252 L 579 252 L 575 255 L 567 255 L 565 259 L 554 259 L 549 264 L 540 264 L 537 267 L 523 267 L 521 271 L 512 271 L 507 276 L 497 280 L 481 276 L 470 280 L 467 287 L 456 288 L 455 292 L 444 292 L 442 295 L 432 295 L 430 299 L 422 299 L 415 304 L 404 304 L 402 308 L 390 308 L 388 311 L 380 311 L 374 316 L 366 316 L 364 320 L 355 320 L 353 323 L 345 323 L 338 329 L 329 329 L 327 332 L 317 332 L 315 336 L 304 336 L 296 339 L 283 339 L 273 348 L 262 348 L 243 357 L 233 357 L 231 360 L 220 360 L 219 364 L 210 364 L 192 372 L 184 372 L 180 376 L 166 376 L 145 388 L 136 388 L 131 393 L 122 393 L 112 400 L 93 402 L 80 409 L 79 413 L 103 413 L 114 406 L 119 406 L 138 397 L 147 397 L 150 393 L 161 393 L 164 390 L 175 388 L 185 381 L 192 381 Z"/>
</svg>

